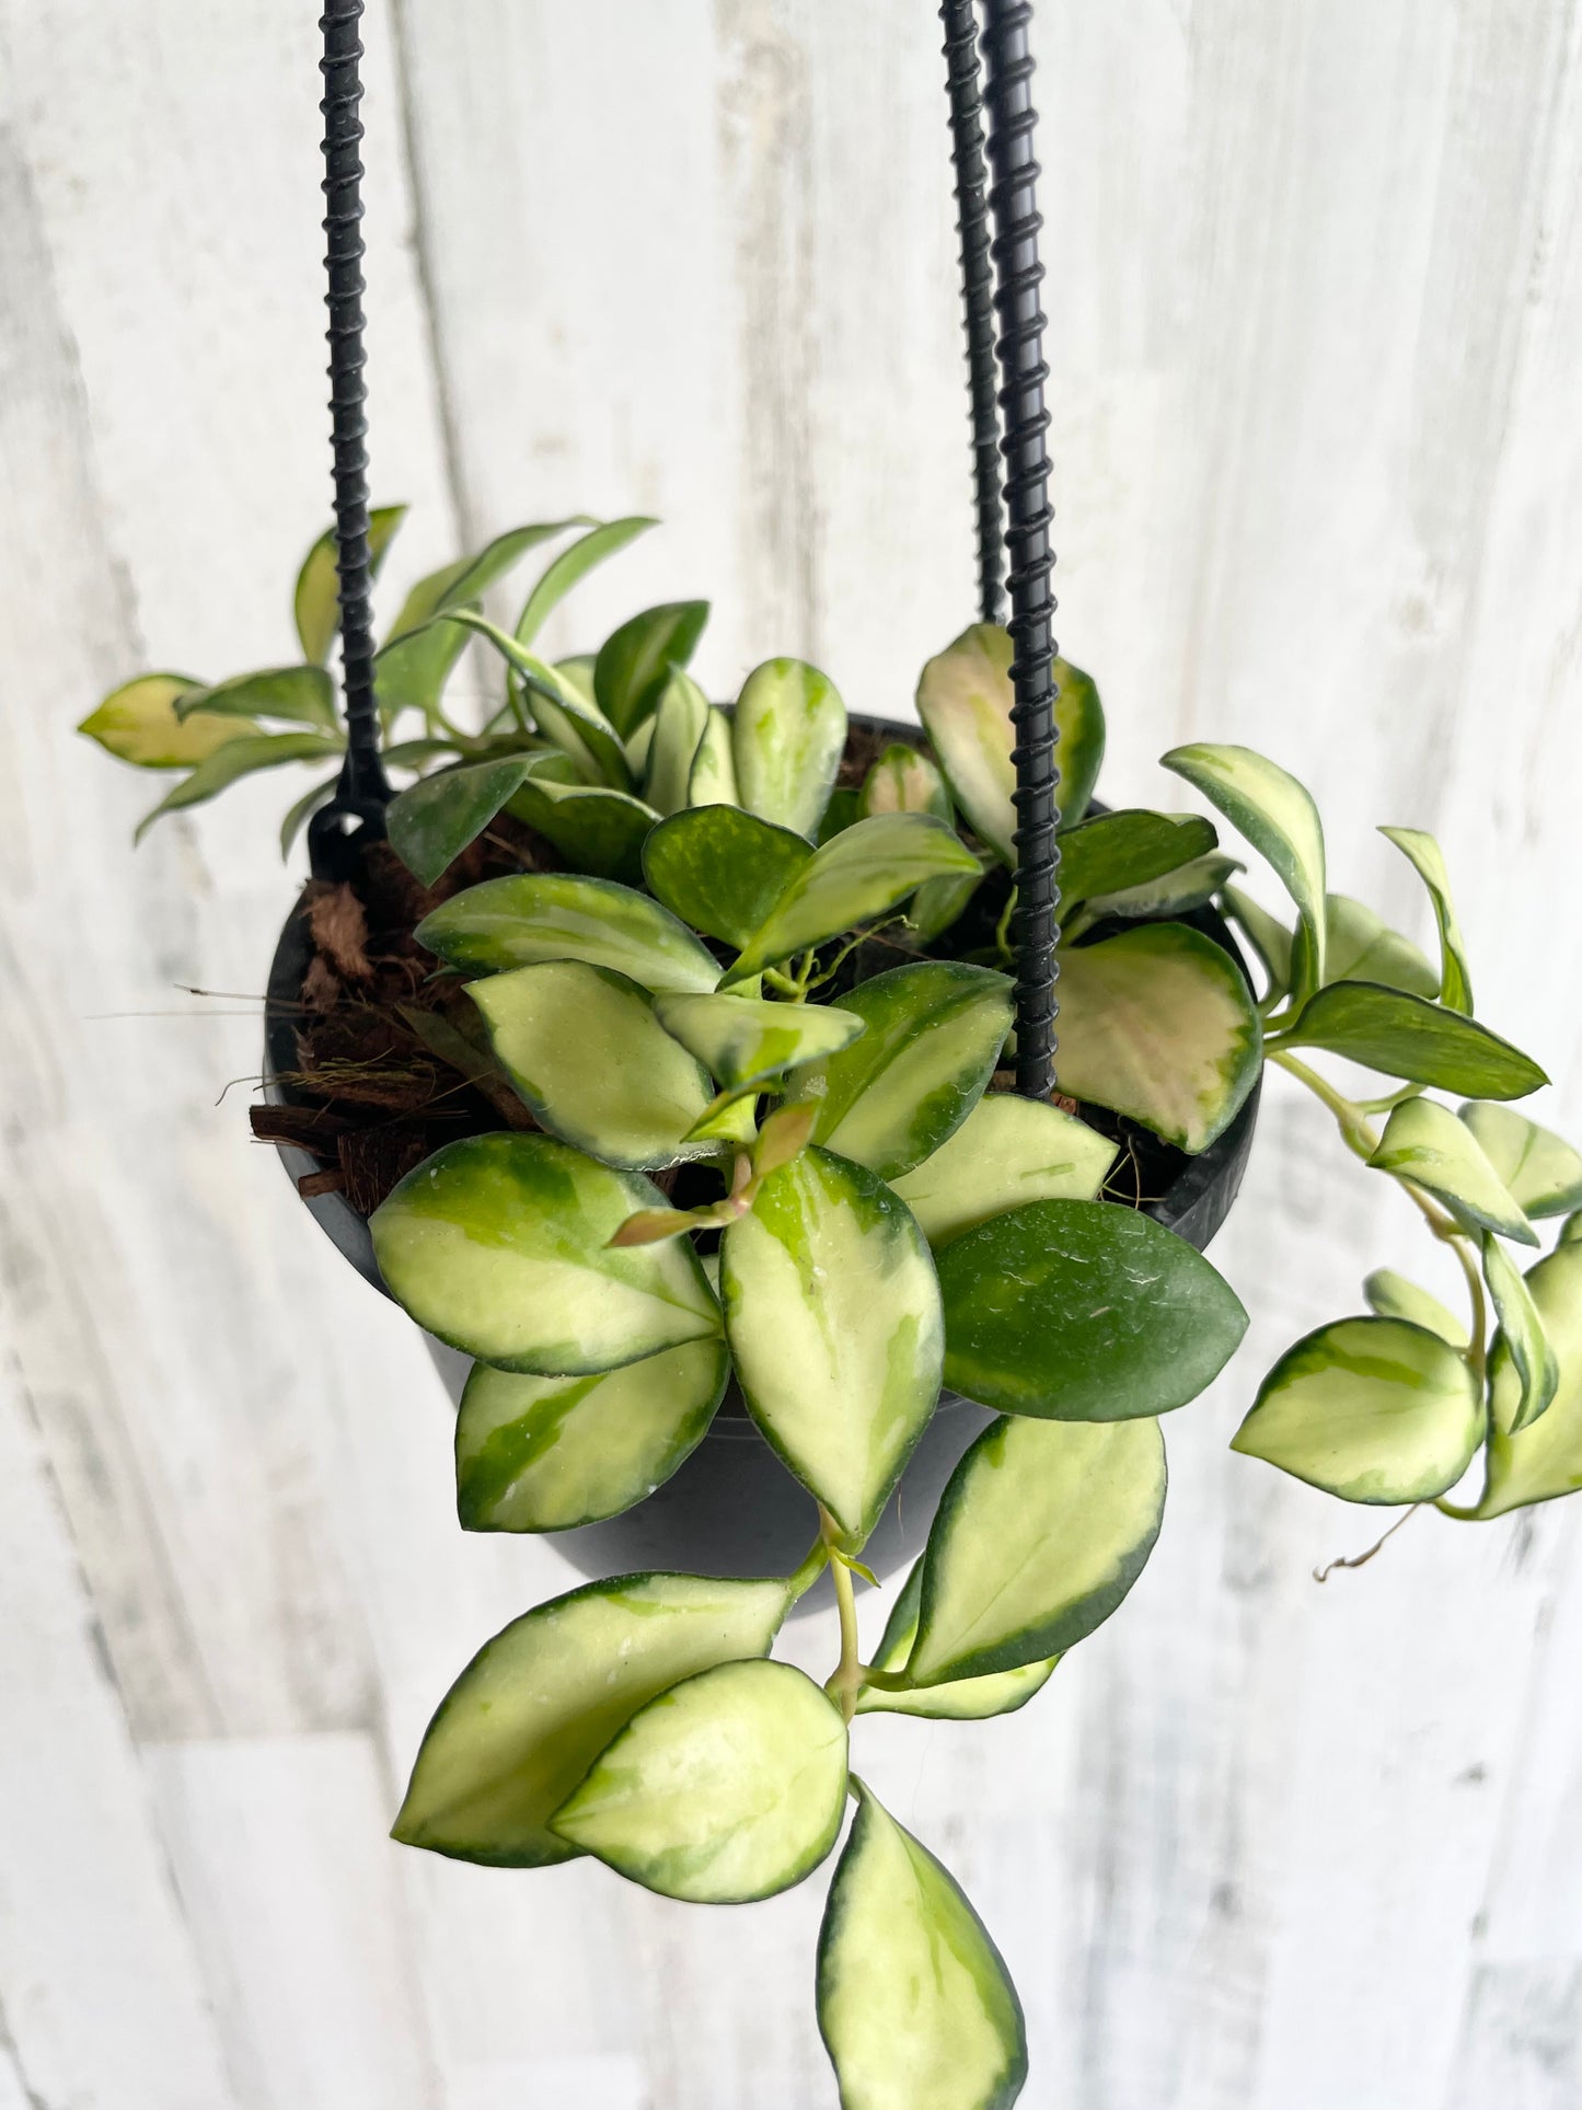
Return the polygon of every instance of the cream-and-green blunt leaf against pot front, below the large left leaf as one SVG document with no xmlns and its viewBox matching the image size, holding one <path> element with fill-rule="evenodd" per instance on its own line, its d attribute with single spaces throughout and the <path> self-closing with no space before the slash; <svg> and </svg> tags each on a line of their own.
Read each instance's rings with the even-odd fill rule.
<svg viewBox="0 0 1582 2110">
<path fill-rule="evenodd" d="M 582 1378 L 475 1363 L 456 1422 L 462 1530 L 567 1532 L 618 1517 L 692 1456 L 728 1376 L 724 1340 Z"/>
</svg>

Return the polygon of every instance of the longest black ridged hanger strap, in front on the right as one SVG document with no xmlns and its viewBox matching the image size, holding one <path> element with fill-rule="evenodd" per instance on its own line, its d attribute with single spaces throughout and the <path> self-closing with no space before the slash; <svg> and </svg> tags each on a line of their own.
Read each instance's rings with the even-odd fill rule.
<svg viewBox="0 0 1582 2110">
<path fill-rule="evenodd" d="M 1000 409 L 1006 458 L 1006 553 L 1010 559 L 1010 684 L 1017 726 L 1017 1091 L 1055 1089 L 1055 941 L 1059 937 L 1059 768 L 1055 766 L 1055 595 L 1048 540 L 1048 411 L 1044 409 L 1044 312 L 1038 295 L 1038 162 L 1027 49 L 1027 0 L 985 0 L 983 65 L 989 112 L 989 213 L 1000 319 Z"/>
</svg>

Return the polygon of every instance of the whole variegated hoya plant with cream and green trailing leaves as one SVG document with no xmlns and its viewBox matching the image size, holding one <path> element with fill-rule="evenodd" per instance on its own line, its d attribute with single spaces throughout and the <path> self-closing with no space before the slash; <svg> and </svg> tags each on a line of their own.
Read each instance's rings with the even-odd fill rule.
<svg viewBox="0 0 1582 2110">
<path fill-rule="evenodd" d="M 375 555 L 399 517 L 375 515 Z M 1582 1156 L 1510 1106 L 1546 1078 L 1472 1017 L 1430 836 L 1386 829 L 1428 888 L 1436 964 L 1329 890 L 1318 814 L 1285 770 L 1245 747 L 1166 755 L 1270 863 L 1287 926 L 1232 884 L 1207 819 L 1088 812 L 1103 715 L 1065 665 L 1067 1097 L 993 1089 L 1006 880 L 996 914 L 972 909 L 985 871 L 1015 867 L 1006 633 L 977 625 L 930 660 L 926 738 L 899 732 L 837 791 L 835 686 L 780 658 L 713 705 L 686 671 L 705 603 L 645 610 L 593 656 L 534 652 L 561 595 L 645 525 L 500 536 L 413 587 L 378 656 L 388 762 L 413 772 L 388 814 L 411 871 L 432 882 L 502 808 L 565 869 L 487 880 L 420 926 L 536 1129 L 439 1150 L 378 1209 L 373 1243 L 407 1312 L 475 1357 L 466 1528 L 553 1532 L 641 1502 L 730 1393 L 814 1498 L 818 1536 L 787 1576 L 618 1576 L 515 1620 L 443 1699 L 394 1836 L 502 1867 L 595 1855 L 667 1897 L 738 1903 L 818 1867 L 850 1796 L 816 1969 L 842 2104 L 989 2110 L 1025 2076 L 1015 1988 L 949 1872 L 850 1772 L 852 1724 L 981 1720 L 1048 1682 L 1154 1545 L 1160 1416 L 1247 1325 L 1200 1253 L 1110 1198 L 1116 1144 L 1072 1104 L 1194 1154 L 1266 1061 L 1318 1095 L 1451 1249 L 1468 1310 L 1371 1274 L 1369 1310 L 1280 1357 L 1234 1447 L 1352 1502 L 1458 1519 L 1582 1485 Z M 572 528 L 517 625 L 489 622 L 485 587 Z M 295 612 L 302 665 L 143 675 L 86 722 L 122 760 L 186 770 L 156 812 L 276 762 L 337 762 L 329 538 Z M 468 637 L 504 663 L 477 730 L 443 701 Z M 287 844 L 331 789 L 291 808 Z M 1251 941 L 1261 996 L 1181 920 L 1207 903 Z M 1350 1097 L 1323 1055 L 1388 1089 Z M 650 1177 L 675 1167 L 690 1205 Z M 1508 1247 L 1536 1247 L 1548 1217 L 1559 1243 L 1523 1274 Z M 854 1576 L 941 1386 L 996 1420 L 865 1661 Z M 840 1661 L 818 1686 L 772 1648 L 825 1572 Z"/>
</svg>

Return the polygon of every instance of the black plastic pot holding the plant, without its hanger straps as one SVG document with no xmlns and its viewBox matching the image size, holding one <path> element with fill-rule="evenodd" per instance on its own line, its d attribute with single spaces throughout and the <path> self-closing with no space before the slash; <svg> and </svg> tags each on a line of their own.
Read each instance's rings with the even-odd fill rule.
<svg viewBox="0 0 1582 2110">
<path fill-rule="evenodd" d="M 890 726 L 884 720 L 854 720 L 856 726 L 892 732 L 896 738 L 918 738 L 913 726 Z M 1179 918 L 1223 945 L 1238 964 L 1240 954 L 1223 918 L 1198 909 Z M 276 1082 L 295 1070 L 295 1015 L 302 979 L 312 958 L 304 903 L 287 918 L 270 966 L 268 1002 L 264 1011 L 264 1093 L 270 1101 L 295 1101 L 295 1093 Z M 1156 1222 L 1179 1232 L 1200 1251 L 1226 1222 L 1230 1205 L 1247 1171 L 1253 1148 L 1261 1082 L 1236 1114 L 1226 1133 L 1200 1156 L 1169 1152 L 1169 1182 L 1158 1198 L 1141 1207 Z M 276 1146 L 287 1173 L 297 1179 L 316 1171 L 306 1150 Z M 1158 1156 L 1158 1152 L 1156 1152 Z M 306 1207 L 331 1243 L 350 1260 L 375 1289 L 384 1291 L 367 1220 L 344 1194 L 316 1194 Z M 460 1401 L 470 1367 L 464 1355 L 424 1336 L 428 1353 L 445 1380 L 451 1401 Z M 865 1551 L 875 1574 L 892 1574 L 922 1551 L 939 1496 L 956 1462 L 991 1416 L 958 1393 L 941 1393 L 934 1418 L 911 1454 L 901 1483 L 890 1496 L 880 1528 Z M 679 1568 L 694 1574 L 787 1574 L 818 1532 L 812 1496 L 785 1471 L 780 1460 L 749 1420 L 732 1384 L 709 1435 L 686 1464 L 637 1509 L 605 1523 L 586 1523 L 574 1532 L 553 1532 L 555 1547 L 591 1576 L 635 1572 L 643 1568 Z M 814 1593 L 804 1604 L 816 1604 Z"/>
</svg>

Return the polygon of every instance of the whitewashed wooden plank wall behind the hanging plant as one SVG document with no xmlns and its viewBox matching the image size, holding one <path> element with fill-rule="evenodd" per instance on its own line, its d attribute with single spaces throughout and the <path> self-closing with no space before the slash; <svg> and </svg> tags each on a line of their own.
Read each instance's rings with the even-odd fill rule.
<svg viewBox="0 0 1582 2110">
<path fill-rule="evenodd" d="M 454 1526 L 407 1323 L 247 1144 L 281 789 L 165 825 L 72 734 L 289 654 L 327 517 L 312 0 L 0 0 L 0 2106 L 802 2110 L 818 1884 L 667 1905 L 386 1844 L 428 1709 L 563 1585 Z M 1110 785 L 1253 741 L 1582 1125 L 1582 11 L 1042 0 L 1061 639 Z M 397 570 L 654 511 L 557 644 L 707 593 L 728 686 L 905 711 L 970 618 L 922 0 L 371 0 Z M 863 1724 L 1029 2011 L 1038 2110 L 1576 2110 L 1582 1517 L 1371 1517 L 1232 1458 L 1415 1264 L 1270 1089 L 1124 1614 L 1029 1711 Z M 825 1633 L 806 1644 L 818 1654 Z"/>
</svg>

